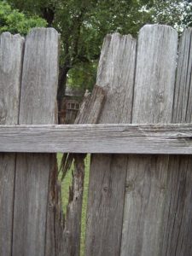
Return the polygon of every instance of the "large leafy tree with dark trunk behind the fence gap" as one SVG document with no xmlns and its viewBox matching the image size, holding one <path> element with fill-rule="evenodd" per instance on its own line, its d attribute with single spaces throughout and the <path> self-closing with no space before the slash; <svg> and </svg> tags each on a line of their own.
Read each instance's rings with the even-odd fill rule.
<svg viewBox="0 0 192 256">
<path fill-rule="evenodd" d="M 59 109 L 67 79 L 69 84 L 83 89 L 94 84 L 102 41 L 107 33 L 136 36 L 141 26 L 154 22 L 180 29 L 185 26 L 184 18 L 189 8 L 189 1 L 182 0 L 8 1 L 26 14 L 41 16 L 48 26 L 54 26 L 61 33 Z"/>
</svg>

